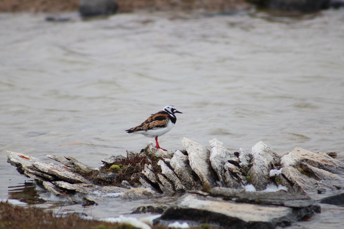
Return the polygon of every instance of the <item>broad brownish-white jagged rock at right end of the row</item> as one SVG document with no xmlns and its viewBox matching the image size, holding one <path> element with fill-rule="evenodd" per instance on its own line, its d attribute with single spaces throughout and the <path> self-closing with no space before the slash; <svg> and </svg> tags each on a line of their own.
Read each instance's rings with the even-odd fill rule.
<svg viewBox="0 0 344 229">
<path fill-rule="evenodd" d="M 277 177 L 289 192 L 315 194 L 320 190 L 320 193 L 335 193 L 335 185 L 344 184 L 344 163 L 326 153 L 297 147 L 284 155 L 280 164 L 282 169 Z"/>
</svg>

